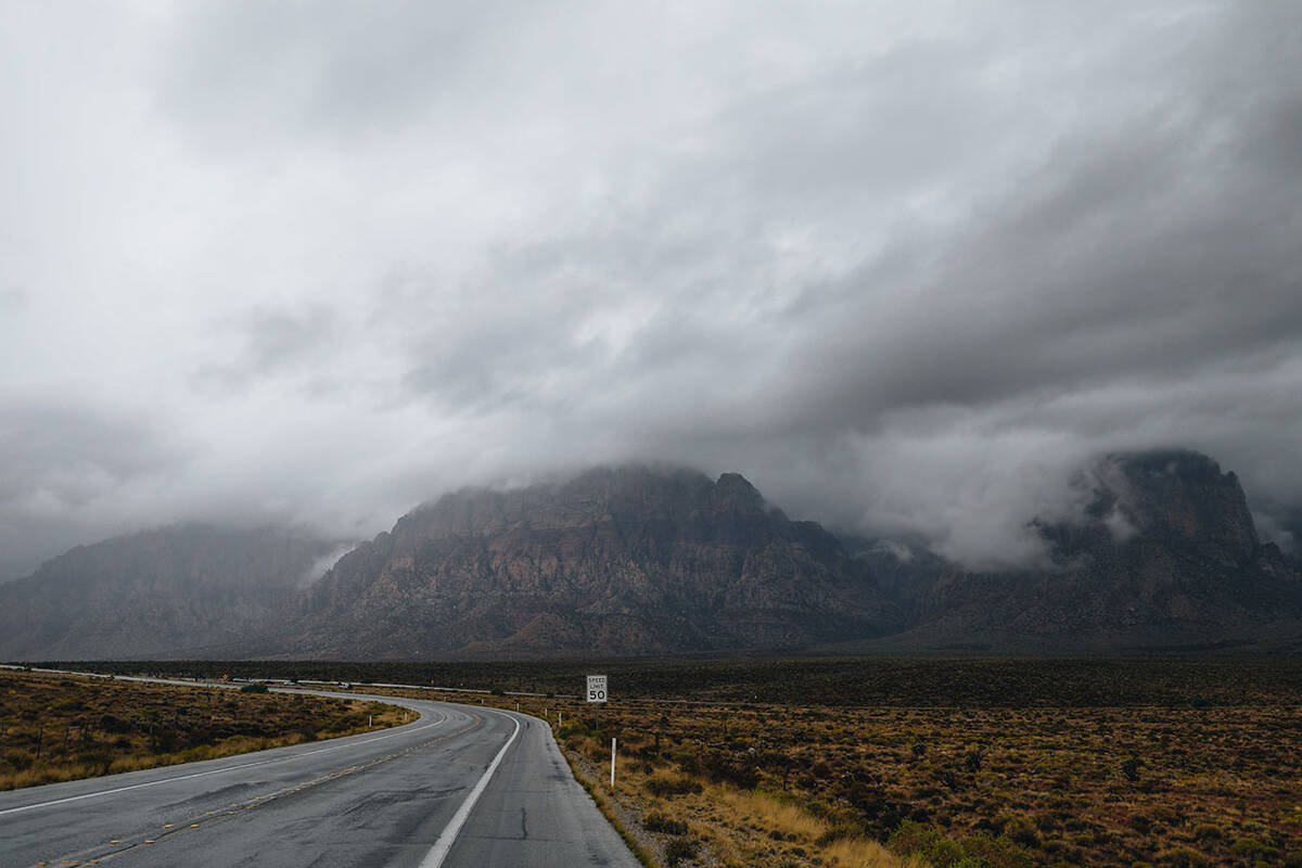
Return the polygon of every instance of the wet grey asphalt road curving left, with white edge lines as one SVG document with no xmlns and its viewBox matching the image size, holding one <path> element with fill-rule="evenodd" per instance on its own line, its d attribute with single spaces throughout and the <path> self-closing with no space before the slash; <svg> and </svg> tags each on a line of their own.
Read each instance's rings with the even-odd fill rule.
<svg viewBox="0 0 1302 868">
<path fill-rule="evenodd" d="M 639 864 L 538 718 L 361 698 L 421 717 L 329 742 L 0 793 L 0 865 Z"/>
</svg>

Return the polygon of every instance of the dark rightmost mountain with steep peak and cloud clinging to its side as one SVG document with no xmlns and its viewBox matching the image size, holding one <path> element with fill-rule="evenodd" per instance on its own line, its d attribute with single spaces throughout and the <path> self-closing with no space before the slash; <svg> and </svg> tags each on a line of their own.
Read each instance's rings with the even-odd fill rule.
<svg viewBox="0 0 1302 868">
<path fill-rule="evenodd" d="M 1051 566 L 973 573 L 861 545 L 910 629 L 898 648 L 1120 651 L 1254 647 L 1302 635 L 1302 575 L 1258 539 L 1233 472 L 1193 452 L 1108 455 L 1079 478 L 1077 522 L 1034 523 Z"/>
</svg>

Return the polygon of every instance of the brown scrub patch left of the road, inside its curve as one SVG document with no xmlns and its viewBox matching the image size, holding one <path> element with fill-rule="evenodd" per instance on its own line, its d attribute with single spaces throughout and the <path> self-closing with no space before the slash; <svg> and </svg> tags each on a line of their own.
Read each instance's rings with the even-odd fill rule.
<svg viewBox="0 0 1302 868">
<path fill-rule="evenodd" d="M 232 756 L 401 724 L 322 696 L 0 670 L 0 790 Z"/>
</svg>

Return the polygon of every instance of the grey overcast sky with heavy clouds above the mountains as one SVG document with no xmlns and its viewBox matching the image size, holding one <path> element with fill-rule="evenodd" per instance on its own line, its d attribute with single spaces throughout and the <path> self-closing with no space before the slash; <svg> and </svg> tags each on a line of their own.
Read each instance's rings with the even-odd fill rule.
<svg viewBox="0 0 1302 868">
<path fill-rule="evenodd" d="M 1302 504 L 1302 8 L 0 0 L 0 576 L 596 462 L 1027 554 Z"/>
</svg>

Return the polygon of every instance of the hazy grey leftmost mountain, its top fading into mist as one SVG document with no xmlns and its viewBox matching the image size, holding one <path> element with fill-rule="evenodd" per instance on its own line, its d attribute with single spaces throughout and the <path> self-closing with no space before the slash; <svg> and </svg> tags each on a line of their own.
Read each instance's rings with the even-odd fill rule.
<svg viewBox="0 0 1302 868">
<path fill-rule="evenodd" d="M 0 658 L 202 655 L 266 631 L 336 543 L 180 524 L 46 561 L 0 584 Z"/>
</svg>

